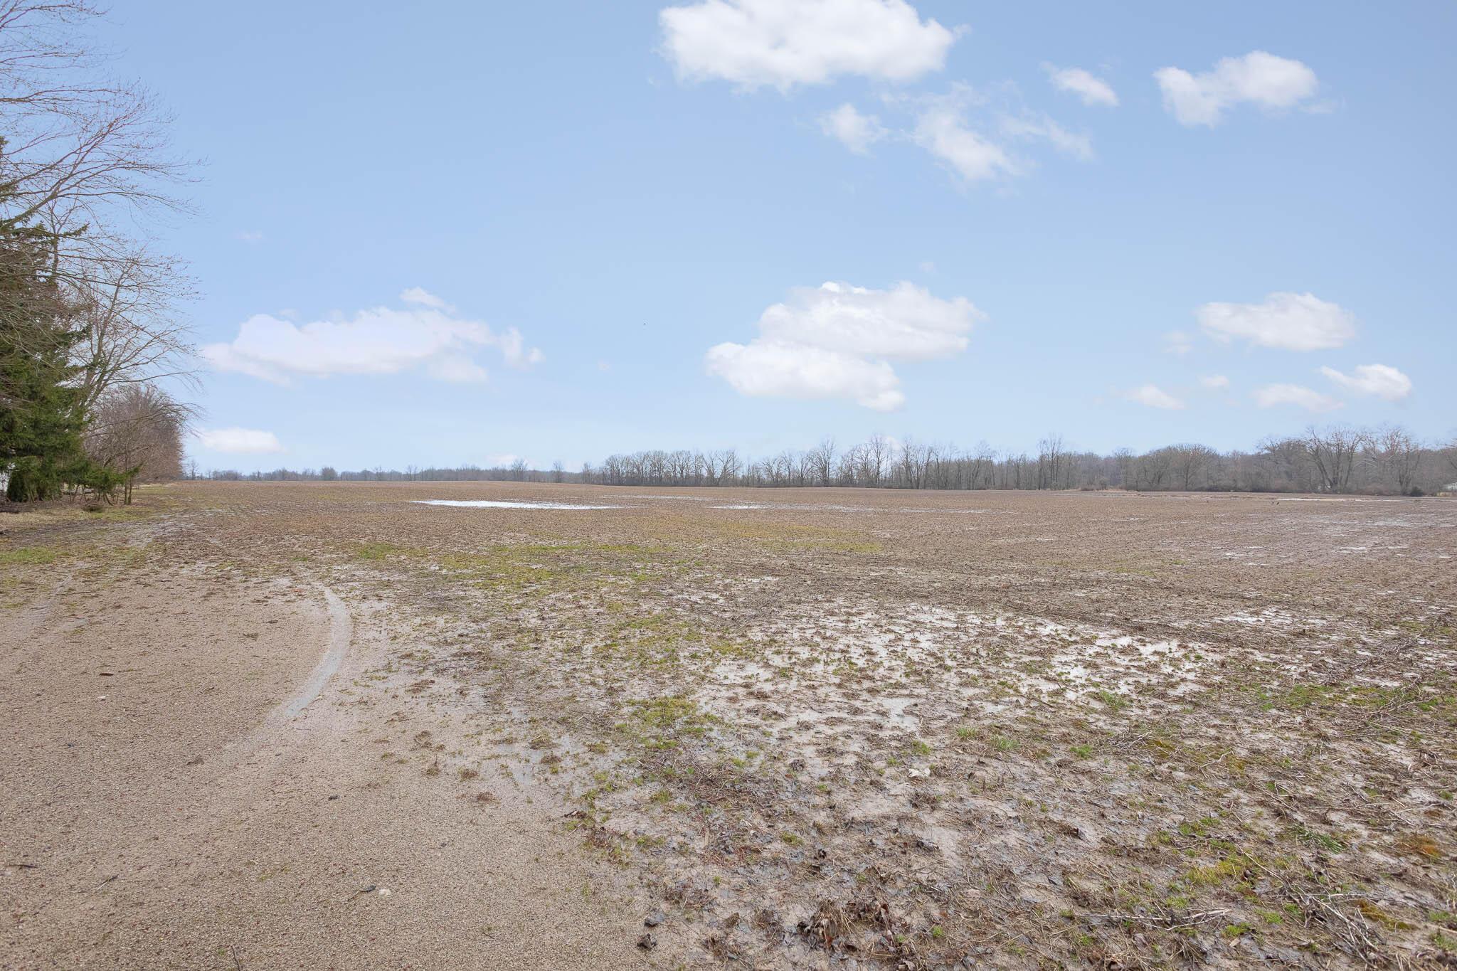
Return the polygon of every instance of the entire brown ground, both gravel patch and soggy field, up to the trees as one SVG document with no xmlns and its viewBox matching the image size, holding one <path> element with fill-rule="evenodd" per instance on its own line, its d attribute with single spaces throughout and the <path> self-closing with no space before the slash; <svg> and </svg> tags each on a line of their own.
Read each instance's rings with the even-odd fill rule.
<svg viewBox="0 0 1457 971">
<path fill-rule="evenodd" d="M 1454 961 L 1451 501 L 197 483 L 0 530 L 6 967 Z"/>
</svg>

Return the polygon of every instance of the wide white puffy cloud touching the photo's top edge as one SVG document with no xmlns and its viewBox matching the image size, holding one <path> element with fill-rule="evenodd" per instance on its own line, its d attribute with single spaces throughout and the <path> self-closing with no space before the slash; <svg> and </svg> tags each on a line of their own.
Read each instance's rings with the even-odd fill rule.
<svg viewBox="0 0 1457 971">
<path fill-rule="evenodd" d="M 679 77 L 749 90 L 842 74 L 914 80 L 941 70 L 956 41 L 905 0 L 702 0 L 664 7 L 657 19 Z"/>
</svg>

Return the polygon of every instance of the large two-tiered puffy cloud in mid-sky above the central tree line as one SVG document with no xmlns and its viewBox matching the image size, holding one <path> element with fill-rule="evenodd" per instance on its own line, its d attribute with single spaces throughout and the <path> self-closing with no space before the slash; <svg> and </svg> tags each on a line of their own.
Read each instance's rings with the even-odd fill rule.
<svg viewBox="0 0 1457 971">
<path fill-rule="evenodd" d="M 740 395 L 845 397 L 893 411 L 905 395 L 890 361 L 960 354 L 983 319 L 965 297 L 941 300 L 909 282 L 797 287 L 759 316 L 758 338 L 710 348 L 705 367 Z"/>
</svg>

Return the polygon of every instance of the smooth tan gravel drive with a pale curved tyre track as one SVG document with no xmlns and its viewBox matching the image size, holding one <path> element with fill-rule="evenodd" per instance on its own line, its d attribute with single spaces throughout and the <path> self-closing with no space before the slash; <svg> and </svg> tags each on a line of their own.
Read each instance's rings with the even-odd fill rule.
<svg viewBox="0 0 1457 971">
<path fill-rule="evenodd" d="M 661 958 L 635 885 L 529 793 L 380 751 L 433 722 L 372 674 L 367 611 L 203 571 L 52 595 L 0 614 L 0 967 Z"/>
</svg>

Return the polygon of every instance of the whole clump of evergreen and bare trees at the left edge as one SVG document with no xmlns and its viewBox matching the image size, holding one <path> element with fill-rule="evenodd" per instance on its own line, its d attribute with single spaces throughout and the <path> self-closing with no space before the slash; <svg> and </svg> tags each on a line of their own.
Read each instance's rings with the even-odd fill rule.
<svg viewBox="0 0 1457 971">
<path fill-rule="evenodd" d="M 87 0 L 0 0 L 0 485 L 127 501 L 181 475 L 189 377 L 175 261 L 136 237 L 182 204 L 147 93 L 98 73 Z M 175 381 L 173 381 L 175 383 Z"/>
</svg>

